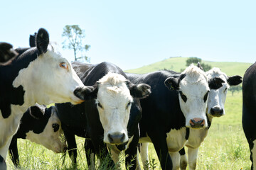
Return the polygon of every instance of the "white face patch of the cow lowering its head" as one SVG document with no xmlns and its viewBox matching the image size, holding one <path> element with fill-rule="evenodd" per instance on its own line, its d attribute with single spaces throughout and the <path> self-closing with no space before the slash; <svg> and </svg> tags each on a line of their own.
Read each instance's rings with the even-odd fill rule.
<svg viewBox="0 0 256 170">
<path fill-rule="evenodd" d="M 57 132 L 54 132 L 53 130 L 53 123 L 59 125 Z M 56 153 L 63 152 L 64 148 L 67 147 L 64 138 L 60 119 L 58 118 L 55 109 L 52 110 L 52 114 L 50 115 L 46 128 L 43 130 L 43 132 L 36 134 L 33 131 L 29 131 L 26 134 L 26 139 L 39 145 L 43 145 L 47 149 L 50 149 Z"/>
</svg>

